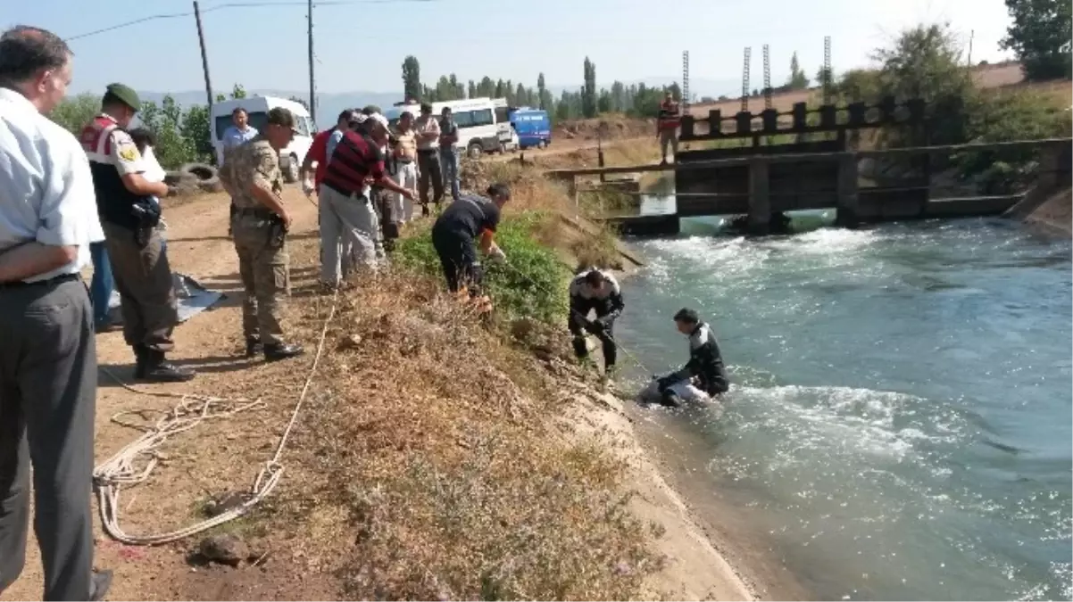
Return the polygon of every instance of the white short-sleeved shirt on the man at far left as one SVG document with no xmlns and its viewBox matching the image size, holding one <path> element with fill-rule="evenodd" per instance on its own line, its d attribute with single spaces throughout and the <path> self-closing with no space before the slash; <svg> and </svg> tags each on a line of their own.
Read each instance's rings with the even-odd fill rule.
<svg viewBox="0 0 1073 602">
<path fill-rule="evenodd" d="M 76 246 L 74 261 L 26 282 L 77 273 L 104 240 L 89 160 L 73 134 L 0 88 L 0 253 L 36 241 Z"/>
</svg>

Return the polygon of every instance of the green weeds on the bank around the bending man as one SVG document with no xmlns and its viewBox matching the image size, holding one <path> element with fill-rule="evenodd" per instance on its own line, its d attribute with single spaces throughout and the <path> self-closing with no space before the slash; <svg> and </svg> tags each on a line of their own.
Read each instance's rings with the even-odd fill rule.
<svg viewBox="0 0 1073 602">
<path fill-rule="evenodd" d="M 497 311 L 509 318 L 534 318 L 557 323 L 567 313 L 567 285 L 571 272 L 555 251 L 536 240 L 538 229 L 549 216 L 542 211 L 506 215 L 496 232 L 496 242 L 506 253 L 508 262 L 483 262 L 484 285 Z M 432 249 L 431 224 L 413 226 L 399 240 L 395 256 L 412 269 L 442 277 L 440 259 Z M 480 253 L 480 252 L 479 252 Z"/>
</svg>

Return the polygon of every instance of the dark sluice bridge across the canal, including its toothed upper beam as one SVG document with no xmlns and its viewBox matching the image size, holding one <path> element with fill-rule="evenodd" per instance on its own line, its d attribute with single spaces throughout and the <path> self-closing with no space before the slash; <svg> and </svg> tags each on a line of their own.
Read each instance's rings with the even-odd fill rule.
<svg viewBox="0 0 1073 602">
<path fill-rule="evenodd" d="M 899 103 L 893 97 L 870 105 L 796 103 L 788 111 L 768 107 L 729 117 L 715 109 L 703 120 L 684 117 L 680 140 L 751 139 L 752 145 L 684 151 L 674 165 L 554 169 L 547 175 L 565 181 L 576 197 L 578 177 L 601 176 L 602 180 L 609 174 L 673 171 L 675 214 L 615 219 L 626 231 L 636 234 L 677 232 L 679 217 L 747 214 L 749 230 L 761 235 L 766 234 L 773 214 L 807 209 L 836 209 L 838 223 L 851 227 L 988 215 L 1002 213 L 1025 197 L 1026 193 L 973 196 L 965 191 L 947 191 L 943 196 L 935 180 L 952 171 L 952 155 L 964 153 L 985 153 L 984 160 L 996 161 L 1015 152 L 1017 162 L 1026 152 L 1035 153 L 1040 164 L 1035 190 L 1068 183 L 1073 139 L 1067 138 L 850 150 L 849 139 L 857 131 L 882 127 L 931 140 L 949 135 L 950 126 L 964 124 L 964 118 L 962 102 L 956 96 L 930 104 L 921 99 Z M 773 144 L 779 139 L 793 141 Z"/>
</svg>

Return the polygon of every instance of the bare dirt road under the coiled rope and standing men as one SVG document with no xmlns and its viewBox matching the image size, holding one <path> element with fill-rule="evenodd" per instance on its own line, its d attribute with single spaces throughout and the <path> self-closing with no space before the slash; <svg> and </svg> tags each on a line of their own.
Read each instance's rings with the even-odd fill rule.
<svg viewBox="0 0 1073 602">
<path fill-rule="evenodd" d="M 289 187 L 284 198 L 294 215 L 292 231 L 295 246 L 304 244 L 306 247 L 305 251 L 292 251 L 292 255 L 297 255 L 292 259 L 293 284 L 300 290 L 308 286 L 315 273 L 315 266 L 312 265 L 315 251 L 310 256 L 308 247 L 315 246 L 312 239 L 315 238 L 317 209 L 296 189 Z M 267 403 L 285 406 L 293 403 L 295 388 L 290 383 L 259 385 L 259 380 L 264 380 L 259 376 L 268 374 L 266 371 L 271 368 L 260 361 L 248 361 L 240 355 L 244 350 L 241 285 L 234 246 L 227 238 L 227 205 L 226 197 L 217 194 L 195 197 L 165 209 L 167 253 L 173 270 L 189 274 L 227 297 L 218 306 L 176 329 L 177 349 L 172 357 L 176 363 L 195 368 L 197 378 L 187 385 L 153 385 L 144 389 L 215 395 L 245 394 L 251 397 L 264 395 Z M 129 380 L 133 372 L 133 356 L 123 343 L 122 334 L 99 334 L 97 342 L 101 367 Z M 309 361 L 304 358 L 293 360 L 291 367 L 302 372 L 308 367 L 307 364 Z M 111 418 L 116 412 L 166 410 L 178 402 L 177 398 L 157 398 L 129 392 L 117 387 L 102 371 L 97 402 L 97 463 L 106 460 L 138 435 L 136 431 L 113 423 Z M 124 494 L 121 520 L 129 532 L 162 532 L 188 526 L 196 521 L 194 509 L 204 501 L 208 492 L 249 487 L 250 479 L 256 475 L 256 466 L 229 466 L 235 463 L 229 458 L 237 460 L 245 449 L 256 452 L 259 456 L 270 455 L 271 446 L 279 435 L 277 425 L 261 424 L 259 427 L 258 420 L 251 418 L 237 420 L 230 431 L 225 431 L 209 428 L 204 433 L 191 432 L 193 435 L 189 438 L 183 435 L 185 440 L 177 448 L 168 449 L 176 457 L 165 462 L 146 486 Z M 241 438 L 236 436 L 236 431 L 245 431 Z M 116 572 L 108 597 L 111 602 L 237 599 L 226 593 L 237 591 L 229 589 L 235 587 L 231 582 L 230 585 L 191 588 L 190 580 L 199 576 L 199 569 L 187 563 L 186 555 L 196 539 L 161 547 L 129 547 L 101 535 L 99 521 L 95 523 L 99 535 L 97 566 Z M 3 602 L 41 599 L 40 557 L 33 541 L 30 542 L 28 556 L 21 578 L 0 597 Z M 186 585 L 180 586 L 179 583 Z"/>
</svg>

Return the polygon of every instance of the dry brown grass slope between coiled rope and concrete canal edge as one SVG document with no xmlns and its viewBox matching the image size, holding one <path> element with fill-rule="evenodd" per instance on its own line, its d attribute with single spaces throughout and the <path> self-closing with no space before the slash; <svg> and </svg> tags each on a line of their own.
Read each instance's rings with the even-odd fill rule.
<svg viewBox="0 0 1073 602">
<path fill-rule="evenodd" d="M 623 465 L 558 423 L 576 400 L 438 283 L 377 284 L 340 302 L 289 463 L 309 486 L 270 520 L 362 599 L 636 599 L 652 533 Z"/>
</svg>

